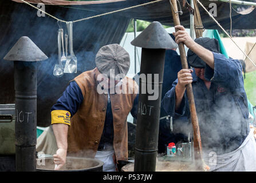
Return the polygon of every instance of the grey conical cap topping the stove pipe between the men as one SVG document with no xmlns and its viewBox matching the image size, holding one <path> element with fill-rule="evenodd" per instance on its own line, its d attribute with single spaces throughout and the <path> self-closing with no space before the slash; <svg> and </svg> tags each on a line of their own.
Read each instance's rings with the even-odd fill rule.
<svg viewBox="0 0 256 183">
<path fill-rule="evenodd" d="M 175 49 L 178 45 L 160 22 L 152 22 L 133 41 L 133 46 L 148 49 Z"/>
</svg>

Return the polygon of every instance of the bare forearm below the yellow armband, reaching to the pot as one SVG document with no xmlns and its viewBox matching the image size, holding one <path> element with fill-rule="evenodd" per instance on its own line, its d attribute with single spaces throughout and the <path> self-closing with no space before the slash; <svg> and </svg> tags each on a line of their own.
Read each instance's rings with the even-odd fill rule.
<svg viewBox="0 0 256 183">
<path fill-rule="evenodd" d="M 68 149 L 68 128 L 69 126 L 65 124 L 53 124 L 53 133 L 58 148 Z"/>
</svg>

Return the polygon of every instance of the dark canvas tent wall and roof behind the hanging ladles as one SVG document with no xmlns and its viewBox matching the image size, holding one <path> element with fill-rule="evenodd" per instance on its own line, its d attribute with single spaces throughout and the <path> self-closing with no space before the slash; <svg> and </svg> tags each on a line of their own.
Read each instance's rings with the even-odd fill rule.
<svg viewBox="0 0 256 183">
<path fill-rule="evenodd" d="M 38 62 L 37 82 L 37 125 L 50 125 L 50 108 L 64 92 L 68 82 L 83 71 L 95 67 L 94 58 L 101 46 L 110 43 L 120 43 L 131 18 L 145 21 L 159 21 L 163 25 L 173 25 L 170 3 L 168 0 L 152 5 L 137 7 L 115 14 L 92 18 L 87 21 L 74 23 L 74 53 L 78 59 L 76 74 L 64 74 L 61 78 L 53 76 L 54 65 L 57 61 L 57 30 L 56 19 L 38 17 L 37 10 L 20 3 L 19 0 L 0 2 L 0 104 L 14 104 L 13 62 L 4 61 L 3 57 L 15 42 L 24 35 L 29 37 L 49 57 L 46 61 Z M 45 3 L 47 13 L 65 21 L 73 21 L 125 7 L 149 2 L 148 0 L 111 0 L 71 2 L 63 0 L 27 0 L 31 3 Z M 182 1 L 180 0 L 182 3 Z M 202 0 L 208 7 L 210 1 Z M 230 27 L 229 5 L 216 2 L 218 16 L 216 19 L 225 28 Z M 35 5 L 35 4 L 34 4 Z M 182 8 L 180 16 L 182 25 L 190 27 L 190 14 L 186 7 Z M 206 29 L 218 29 L 218 26 L 199 6 L 203 25 Z M 256 29 L 256 10 L 249 9 L 247 14 L 233 11 L 233 29 Z M 64 27 L 65 23 L 60 23 Z"/>
</svg>

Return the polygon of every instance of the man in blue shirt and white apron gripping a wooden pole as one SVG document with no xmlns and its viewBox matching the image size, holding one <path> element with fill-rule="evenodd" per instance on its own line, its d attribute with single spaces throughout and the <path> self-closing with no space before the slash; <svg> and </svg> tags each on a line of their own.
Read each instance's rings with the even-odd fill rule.
<svg viewBox="0 0 256 183">
<path fill-rule="evenodd" d="M 186 85 L 192 83 L 198 114 L 203 156 L 212 171 L 256 171 L 256 143 L 249 128 L 247 97 L 242 65 L 219 53 L 216 39 L 188 35 L 183 26 L 175 34 L 177 43 L 188 48 L 188 63 L 162 100 L 175 118 L 190 117 Z"/>
</svg>

